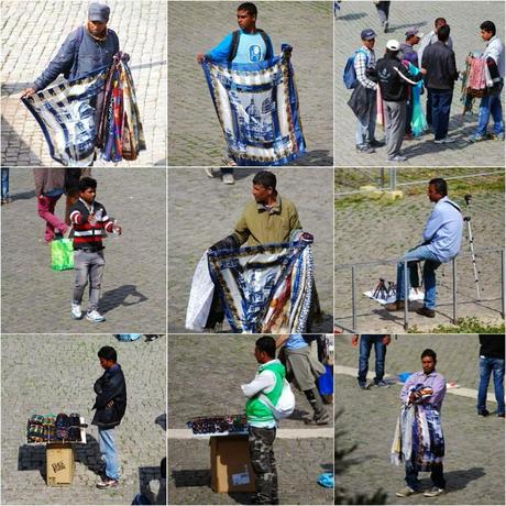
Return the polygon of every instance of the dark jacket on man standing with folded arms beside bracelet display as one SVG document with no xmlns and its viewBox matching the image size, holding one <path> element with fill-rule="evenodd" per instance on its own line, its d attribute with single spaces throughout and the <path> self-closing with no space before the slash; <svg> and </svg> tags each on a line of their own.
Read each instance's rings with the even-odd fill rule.
<svg viewBox="0 0 506 506">
<path fill-rule="evenodd" d="M 103 375 L 95 382 L 97 397 L 92 409 L 95 413 L 91 425 L 105 429 L 112 429 L 120 425 L 127 409 L 127 384 L 120 364 L 106 370 Z M 112 406 L 107 405 L 112 402 Z"/>
</svg>

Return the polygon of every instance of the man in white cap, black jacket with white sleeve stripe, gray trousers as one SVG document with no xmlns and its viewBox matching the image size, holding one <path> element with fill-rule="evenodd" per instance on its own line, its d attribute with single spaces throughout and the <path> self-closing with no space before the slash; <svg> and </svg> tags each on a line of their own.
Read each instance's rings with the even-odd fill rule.
<svg viewBox="0 0 506 506">
<path fill-rule="evenodd" d="M 376 62 L 377 84 L 382 91 L 386 121 L 386 160 L 388 162 L 405 162 L 400 155 L 404 130 L 406 127 L 406 107 L 408 86 L 416 85 L 422 78 L 425 70 L 414 76 L 409 74 L 397 57 L 400 44 L 391 40 L 386 43 L 385 57 Z"/>
</svg>

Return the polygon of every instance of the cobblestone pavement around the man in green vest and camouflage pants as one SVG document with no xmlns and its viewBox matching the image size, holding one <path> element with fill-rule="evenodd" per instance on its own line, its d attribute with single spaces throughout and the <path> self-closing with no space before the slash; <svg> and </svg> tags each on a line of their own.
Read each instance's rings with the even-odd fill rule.
<svg viewBox="0 0 506 506">
<path fill-rule="evenodd" d="M 244 413 L 240 385 L 256 371 L 252 336 L 170 336 L 168 340 L 168 428 L 180 429 L 199 416 Z M 184 360 L 182 359 L 184 356 Z M 202 387 L 202 378 L 205 386 Z M 209 386 L 208 386 L 209 385 Z M 310 408 L 299 392 L 296 411 L 280 429 L 300 428 L 311 433 L 301 417 Z M 328 406 L 331 411 L 332 407 Z M 217 494 L 210 488 L 209 442 L 169 439 L 170 504 L 248 504 L 251 494 Z M 276 439 L 280 504 L 332 504 L 333 491 L 317 484 L 323 472 L 332 472 L 331 438 Z"/>
</svg>

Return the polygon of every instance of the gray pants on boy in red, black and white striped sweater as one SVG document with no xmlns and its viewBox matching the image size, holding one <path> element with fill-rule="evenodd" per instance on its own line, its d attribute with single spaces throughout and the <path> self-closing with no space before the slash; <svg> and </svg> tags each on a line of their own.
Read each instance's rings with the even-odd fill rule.
<svg viewBox="0 0 506 506">
<path fill-rule="evenodd" d="M 74 252 L 74 272 L 75 284 L 73 301 L 80 304 L 82 294 L 89 278 L 89 311 L 98 309 L 98 299 L 100 298 L 100 284 L 102 283 L 103 267 L 106 260 L 103 251 L 88 252 L 76 250 Z"/>
</svg>

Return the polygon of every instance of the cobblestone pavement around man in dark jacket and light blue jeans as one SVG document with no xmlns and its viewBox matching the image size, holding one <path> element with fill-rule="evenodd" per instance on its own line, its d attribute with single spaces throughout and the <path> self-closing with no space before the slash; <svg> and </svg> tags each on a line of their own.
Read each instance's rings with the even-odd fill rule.
<svg viewBox="0 0 506 506">
<path fill-rule="evenodd" d="M 122 343 L 112 336 L 2 337 L 2 504 L 131 504 L 151 480 L 160 484 L 165 455 L 166 339 Z M 98 491 L 100 451 L 95 426 L 77 448 L 69 487 L 45 484 L 45 451 L 26 444 L 26 419 L 34 413 L 79 413 L 87 424 L 95 411 L 94 383 L 103 374 L 97 352 L 118 351 L 128 388 L 127 413 L 114 430 L 121 465 L 118 488 Z M 32 351 L 33 352 L 30 352 Z M 145 365 L 148 364 L 148 367 Z"/>
</svg>

